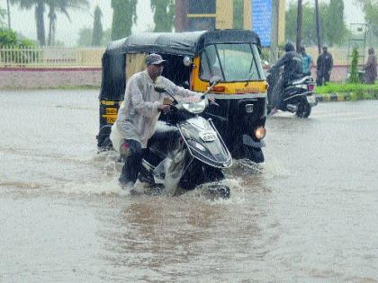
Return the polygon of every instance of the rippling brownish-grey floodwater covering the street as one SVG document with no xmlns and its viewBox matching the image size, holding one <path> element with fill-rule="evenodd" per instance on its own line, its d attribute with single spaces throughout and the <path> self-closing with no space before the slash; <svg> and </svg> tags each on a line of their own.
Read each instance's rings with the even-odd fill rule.
<svg viewBox="0 0 378 283">
<path fill-rule="evenodd" d="M 0 92 L 0 282 L 378 282 L 378 102 L 267 120 L 231 198 L 118 187 L 98 92 Z"/>
</svg>

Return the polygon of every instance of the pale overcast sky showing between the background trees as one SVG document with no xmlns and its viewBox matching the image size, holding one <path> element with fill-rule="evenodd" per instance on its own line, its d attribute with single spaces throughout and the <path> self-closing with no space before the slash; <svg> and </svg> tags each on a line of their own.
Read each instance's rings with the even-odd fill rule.
<svg viewBox="0 0 378 283">
<path fill-rule="evenodd" d="M 293 1 L 293 0 L 292 0 Z M 320 0 L 328 1 L 328 0 Z M 344 0 L 345 4 L 345 20 L 349 24 L 351 22 L 364 22 L 364 15 L 361 7 L 355 4 L 356 0 Z M 91 0 L 90 11 L 69 11 L 72 22 L 69 22 L 66 15 L 58 13 L 57 20 L 57 40 L 65 42 L 66 46 L 75 46 L 78 37 L 78 31 L 84 27 L 92 27 L 94 18 L 94 7 L 98 4 L 103 11 L 103 29 L 112 26 L 112 7 L 111 0 Z M 289 0 L 286 0 L 289 3 Z M 6 0 L 0 0 L 0 7 L 6 8 Z M 133 27 L 133 32 L 148 31 L 154 27 L 153 14 L 149 5 L 149 0 L 138 0 L 137 4 L 138 21 L 137 25 Z M 47 14 L 47 13 L 46 13 Z M 11 24 L 12 28 L 20 31 L 23 35 L 36 39 L 37 32 L 35 28 L 34 10 L 21 10 L 18 5 L 11 6 Z M 7 22 L 7 21 L 4 21 Z M 49 22 L 46 16 L 45 19 L 46 33 Z"/>
</svg>

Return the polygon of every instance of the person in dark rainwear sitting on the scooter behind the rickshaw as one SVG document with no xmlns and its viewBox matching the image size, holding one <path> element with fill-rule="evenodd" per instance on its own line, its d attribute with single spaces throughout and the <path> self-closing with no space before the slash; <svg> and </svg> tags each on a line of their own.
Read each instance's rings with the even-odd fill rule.
<svg viewBox="0 0 378 283">
<path fill-rule="evenodd" d="M 274 66 L 277 69 L 284 66 L 284 72 L 278 80 L 278 83 L 275 84 L 275 89 L 273 90 L 272 102 L 270 103 L 274 108 L 270 112 L 270 115 L 274 115 L 277 112 L 281 103 L 281 96 L 284 93 L 284 87 L 289 84 L 289 82 L 302 77 L 302 58 L 295 52 L 293 43 L 287 42 L 284 45 L 284 51 L 284 57 L 281 57 Z"/>
</svg>

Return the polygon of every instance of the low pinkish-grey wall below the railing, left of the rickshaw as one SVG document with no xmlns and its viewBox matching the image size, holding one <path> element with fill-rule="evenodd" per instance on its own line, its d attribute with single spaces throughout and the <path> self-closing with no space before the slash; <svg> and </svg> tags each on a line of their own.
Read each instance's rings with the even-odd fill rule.
<svg viewBox="0 0 378 283">
<path fill-rule="evenodd" d="M 0 88 L 100 86 L 101 68 L 0 68 Z"/>
</svg>

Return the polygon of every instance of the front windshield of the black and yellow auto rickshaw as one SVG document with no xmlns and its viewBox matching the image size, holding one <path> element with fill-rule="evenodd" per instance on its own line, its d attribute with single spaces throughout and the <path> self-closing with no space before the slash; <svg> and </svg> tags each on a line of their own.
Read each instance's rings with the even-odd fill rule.
<svg viewBox="0 0 378 283">
<path fill-rule="evenodd" d="M 223 82 L 265 79 L 257 47 L 249 43 L 213 44 L 201 54 L 200 77 L 209 80 L 219 75 Z"/>
</svg>

